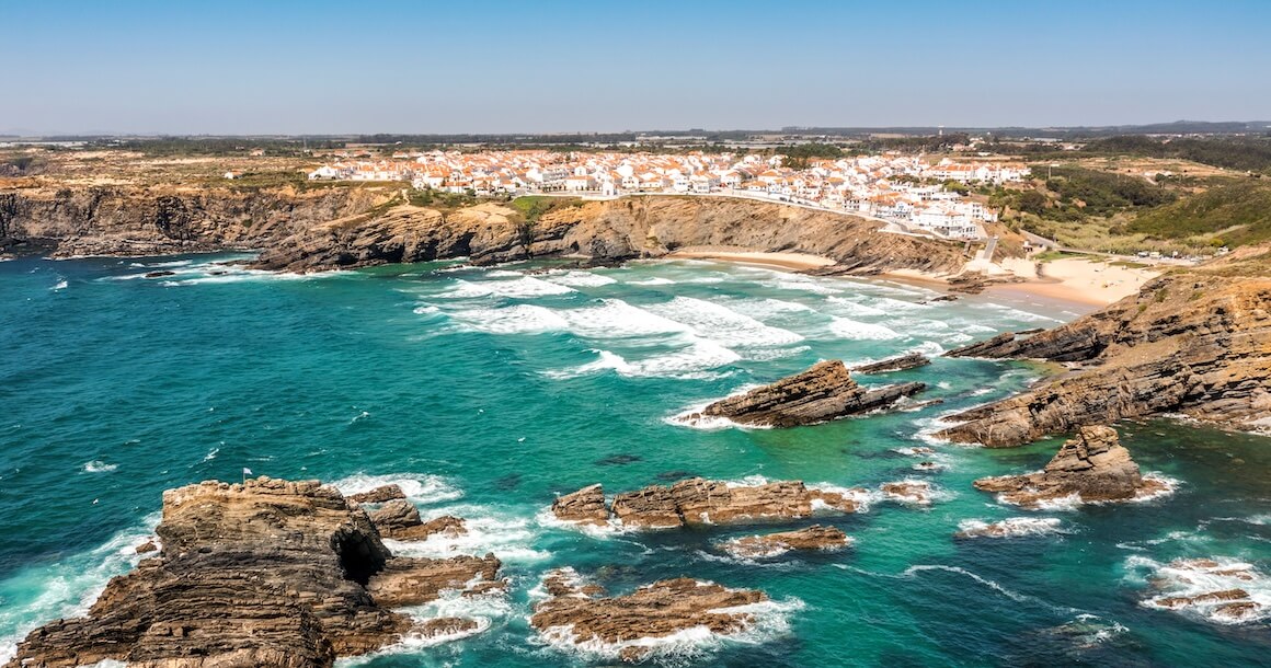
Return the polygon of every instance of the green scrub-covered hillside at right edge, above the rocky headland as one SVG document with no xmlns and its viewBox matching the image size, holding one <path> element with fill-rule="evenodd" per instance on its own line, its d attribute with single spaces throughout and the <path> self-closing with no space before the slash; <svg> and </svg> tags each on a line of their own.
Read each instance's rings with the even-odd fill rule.
<svg viewBox="0 0 1271 668">
<path fill-rule="evenodd" d="M 1240 180 L 1210 188 L 1143 212 L 1124 231 L 1210 246 L 1267 241 L 1271 240 L 1271 183 Z"/>
</svg>

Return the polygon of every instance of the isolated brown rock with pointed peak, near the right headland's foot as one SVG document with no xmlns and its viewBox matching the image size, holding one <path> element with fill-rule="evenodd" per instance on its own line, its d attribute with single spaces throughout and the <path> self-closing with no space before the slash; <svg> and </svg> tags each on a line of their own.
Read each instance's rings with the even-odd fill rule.
<svg viewBox="0 0 1271 668">
<path fill-rule="evenodd" d="M 1082 427 L 1038 472 L 981 478 L 975 486 L 1026 508 L 1074 495 L 1083 503 L 1130 500 L 1164 489 L 1163 483 L 1140 475 L 1111 427 Z"/>
</svg>

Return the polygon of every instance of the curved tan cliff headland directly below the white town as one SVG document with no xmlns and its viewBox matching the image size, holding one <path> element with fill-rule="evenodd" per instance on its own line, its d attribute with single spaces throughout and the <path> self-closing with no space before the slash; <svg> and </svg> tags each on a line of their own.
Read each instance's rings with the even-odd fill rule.
<svg viewBox="0 0 1271 668">
<path fill-rule="evenodd" d="M 450 213 L 399 206 L 300 231 L 273 244 L 257 267 L 310 272 L 454 257 L 493 264 L 566 255 L 614 263 L 702 245 L 825 255 L 836 260 L 830 273 L 956 272 L 962 265 L 956 244 L 878 234 L 878 227 L 840 213 L 705 197 L 586 202 L 534 222 L 493 203 Z"/>
</svg>

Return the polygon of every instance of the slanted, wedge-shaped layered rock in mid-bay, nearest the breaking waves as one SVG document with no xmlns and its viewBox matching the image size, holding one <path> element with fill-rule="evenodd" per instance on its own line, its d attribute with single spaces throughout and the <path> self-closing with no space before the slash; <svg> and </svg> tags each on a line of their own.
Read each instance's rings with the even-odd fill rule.
<svg viewBox="0 0 1271 668">
<path fill-rule="evenodd" d="M 764 427 L 815 424 L 890 406 L 924 387 L 921 382 L 906 382 L 868 390 L 852 380 L 841 359 L 830 359 L 744 395 L 721 399 L 686 419 L 705 415 Z"/>
</svg>

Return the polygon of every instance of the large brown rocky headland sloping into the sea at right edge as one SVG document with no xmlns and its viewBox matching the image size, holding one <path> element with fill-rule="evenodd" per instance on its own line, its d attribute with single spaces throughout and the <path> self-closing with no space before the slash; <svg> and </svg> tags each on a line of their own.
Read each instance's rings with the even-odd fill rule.
<svg viewBox="0 0 1271 668">
<path fill-rule="evenodd" d="M 949 352 L 1049 359 L 1070 370 L 955 415 L 949 420 L 961 424 L 937 436 L 1010 447 L 1083 424 L 1171 413 L 1271 429 L 1271 254 L 1256 253 L 1166 274 L 1068 325 Z"/>
</svg>

